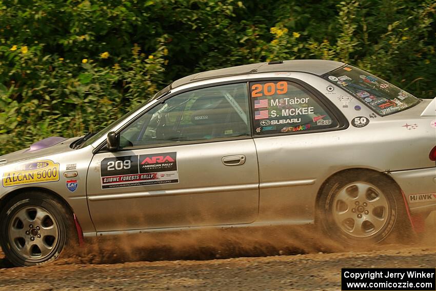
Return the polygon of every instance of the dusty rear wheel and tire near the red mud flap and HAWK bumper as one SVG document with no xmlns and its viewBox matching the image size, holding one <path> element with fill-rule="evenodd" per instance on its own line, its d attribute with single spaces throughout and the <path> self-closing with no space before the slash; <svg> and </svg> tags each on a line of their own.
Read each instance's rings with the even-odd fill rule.
<svg viewBox="0 0 436 291">
<path fill-rule="evenodd" d="M 374 244 L 403 227 L 402 193 L 381 173 L 348 171 L 325 185 L 319 200 L 319 223 L 326 234 L 345 244 Z"/>
</svg>

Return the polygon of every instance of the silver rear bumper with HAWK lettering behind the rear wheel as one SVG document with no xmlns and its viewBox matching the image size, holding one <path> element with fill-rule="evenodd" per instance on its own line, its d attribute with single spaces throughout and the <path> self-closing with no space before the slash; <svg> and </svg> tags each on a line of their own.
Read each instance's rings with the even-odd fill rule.
<svg viewBox="0 0 436 291">
<path fill-rule="evenodd" d="M 403 190 L 412 215 L 436 210 L 436 167 L 390 174 Z"/>
</svg>

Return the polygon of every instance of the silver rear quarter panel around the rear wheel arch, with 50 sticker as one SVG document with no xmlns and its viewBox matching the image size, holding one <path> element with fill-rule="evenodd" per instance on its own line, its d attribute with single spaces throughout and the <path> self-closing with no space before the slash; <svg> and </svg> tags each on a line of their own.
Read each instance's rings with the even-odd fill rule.
<svg viewBox="0 0 436 291">
<path fill-rule="evenodd" d="M 332 174 L 344 169 L 367 168 L 390 173 L 434 168 L 428 154 L 435 145 L 436 132 L 431 118 L 420 117 L 425 104 L 380 117 L 319 76 L 290 73 L 289 77 L 323 93 L 350 125 L 337 131 L 254 139 L 260 165 L 259 221 L 283 222 L 289 218 L 291 223 L 312 221 L 319 189 Z M 333 85 L 333 91 L 326 89 L 329 85 Z M 368 118 L 369 124 L 353 127 L 351 121 L 356 117 Z M 400 186 L 404 184 L 397 182 Z M 431 191 L 431 184 L 426 185 Z"/>
</svg>

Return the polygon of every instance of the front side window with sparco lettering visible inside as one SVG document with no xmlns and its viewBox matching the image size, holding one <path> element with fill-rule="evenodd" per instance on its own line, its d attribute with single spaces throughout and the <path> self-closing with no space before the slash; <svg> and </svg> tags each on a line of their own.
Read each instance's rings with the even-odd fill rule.
<svg viewBox="0 0 436 291">
<path fill-rule="evenodd" d="M 120 135 L 121 147 L 142 147 L 250 135 L 246 84 L 197 89 L 158 104 Z"/>
</svg>

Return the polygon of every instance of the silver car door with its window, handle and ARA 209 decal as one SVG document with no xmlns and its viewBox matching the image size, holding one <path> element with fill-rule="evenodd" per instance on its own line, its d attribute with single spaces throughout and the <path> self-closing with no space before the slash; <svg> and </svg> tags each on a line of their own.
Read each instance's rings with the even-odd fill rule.
<svg viewBox="0 0 436 291">
<path fill-rule="evenodd" d="M 124 127 L 91 161 L 97 231 L 253 222 L 259 176 L 246 84 L 174 95 Z"/>
</svg>

